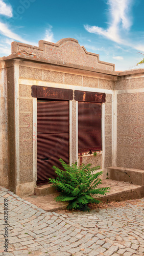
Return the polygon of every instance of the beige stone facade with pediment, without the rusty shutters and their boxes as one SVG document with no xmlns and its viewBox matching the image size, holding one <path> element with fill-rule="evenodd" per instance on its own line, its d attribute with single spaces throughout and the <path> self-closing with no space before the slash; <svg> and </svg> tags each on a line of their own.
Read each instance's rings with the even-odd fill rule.
<svg viewBox="0 0 144 256">
<path fill-rule="evenodd" d="M 36 186 L 36 106 L 32 86 L 100 92 L 102 151 L 78 156 L 78 103 L 69 101 L 69 161 L 107 168 L 143 168 L 144 71 L 117 73 L 73 38 L 39 47 L 12 43 L 12 54 L 1 63 L 0 184 L 17 195 L 33 194 Z"/>
</svg>

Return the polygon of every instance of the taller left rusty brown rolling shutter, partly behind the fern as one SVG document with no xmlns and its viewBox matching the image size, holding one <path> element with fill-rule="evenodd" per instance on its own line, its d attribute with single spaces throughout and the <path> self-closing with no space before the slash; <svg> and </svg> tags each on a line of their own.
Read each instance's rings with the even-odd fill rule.
<svg viewBox="0 0 144 256">
<path fill-rule="evenodd" d="M 52 166 L 62 168 L 60 158 L 69 163 L 69 103 L 38 101 L 37 184 L 56 177 Z"/>
</svg>

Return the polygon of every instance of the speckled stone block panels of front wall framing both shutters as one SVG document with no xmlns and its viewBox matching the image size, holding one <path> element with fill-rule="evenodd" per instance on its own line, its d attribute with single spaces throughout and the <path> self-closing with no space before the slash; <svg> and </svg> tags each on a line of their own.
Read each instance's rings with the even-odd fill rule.
<svg viewBox="0 0 144 256">
<path fill-rule="evenodd" d="M 26 66 L 19 66 L 19 79 L 27 79 L 27 84 L 19 84 L 19 132 L 20 132 L 20 183 L 26 183 L 33 181 L 33 98 L 31 96 L 31 86 L 28 85 L 28 81 L 46 81 L 50 82 L 48 86 L 56 87 L 56 84 L 65 84 L 65 88 L 68 86 L 84 86 L 90 88 L 101 88 L 106 90 L 113 90 L 114 82 L 112 80 L 100 79 L 70 73 L 62 73 L 57 71 L 50 71 L 46 69 L 38 69 Z M 31 82 L 32 83 L 32 82 Z M 37 83 L 39 84 L 39 83 Z M 105 154 L 106 161 L 105 167 L 111 165 L 111 94 L 106 95 L 105 103 Z M 76 156 L 76 101 L 72 101 L 72 139 L 71 139 L 71 162 L 77 160 Z M 79 164 L 91 163 L 92 166 L 100 165 L 102 167 L 102 154 L 94 156 L 82 156 L 79 157 Z M 26 175 L 27 173 L 27 175 Z"/>
</svg>

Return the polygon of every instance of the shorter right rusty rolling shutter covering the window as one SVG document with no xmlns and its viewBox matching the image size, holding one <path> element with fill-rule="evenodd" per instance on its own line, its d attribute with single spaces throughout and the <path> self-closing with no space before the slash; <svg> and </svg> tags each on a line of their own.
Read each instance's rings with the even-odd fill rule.
<svg viewBox="0 0 144 256">
<path fill-rule="evenodd" d="M 78 152 L 102 150 L 101 103 L 78 102 Z"/>
</svg>

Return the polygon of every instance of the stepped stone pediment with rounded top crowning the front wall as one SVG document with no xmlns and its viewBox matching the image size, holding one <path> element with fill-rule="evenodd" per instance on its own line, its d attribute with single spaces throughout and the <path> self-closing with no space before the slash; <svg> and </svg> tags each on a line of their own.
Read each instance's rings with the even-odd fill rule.
<svg viewBox="0 0 144 256">
<path fill-rule="evenodd" d="M 114 64 L 100 61 L 99 54 L 87 52 L 73 38 L 61 39 L 56 44 L 40 40 L 39 47 L 12 42 L 12 54 L 14 53 L 62 66 L 114 71 Z"/>
</svg>

